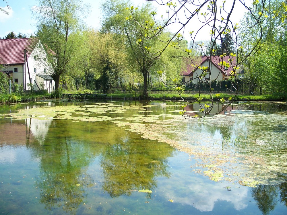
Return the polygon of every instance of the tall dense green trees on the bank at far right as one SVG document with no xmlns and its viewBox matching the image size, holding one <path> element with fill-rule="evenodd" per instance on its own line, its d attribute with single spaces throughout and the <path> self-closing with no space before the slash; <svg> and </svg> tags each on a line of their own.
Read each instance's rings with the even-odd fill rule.
<svg viewBox="0 0 287 215">
<path fill-rule="evenodd" d="M 239 40 L 244 47 L 241 49 L 241 55 L 245 58 L 246 52 L 254 49 L 259 44 L 259 49 L 243 61 L 244 77 L 246 86 L 250 93 L 272 93 L 286 92 L 286 71 L 284 65 L 284 56 L 286 55 L 286 29 L 282 23 L 282 13 L 285 1 L 269 0 L 265 4 L 262 19 L 260 19 L 262 29 L 262 40 L 260 41 L 259 28 L 248 28 L 242 25 Z M 263 5 L 259 4 L 259 8 Z M 280 12 L 279 12 L 280 11 Z M 249 25 L 254 25 L 257 21 L 248 13 L 244 21 Z M 247 35 L 251 35 L 248 37 Z M 285 35 L 285 36 L 284 36 Z M 285 39 L 284 39 L 285 38 Z M 285 51 L 284 51 L 285 49 Z"/>
</svg>

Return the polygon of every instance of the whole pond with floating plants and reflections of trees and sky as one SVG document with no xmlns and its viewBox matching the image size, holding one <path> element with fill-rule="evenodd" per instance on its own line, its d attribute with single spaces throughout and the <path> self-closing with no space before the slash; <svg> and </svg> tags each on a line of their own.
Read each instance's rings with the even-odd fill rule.
<svg viewBox="0 0 287 215">
<path fill-rule="evenodd" d="M 0 214 L 287 214 L 286 103 L 180 104 L 0 106 Z"/>
</svg>

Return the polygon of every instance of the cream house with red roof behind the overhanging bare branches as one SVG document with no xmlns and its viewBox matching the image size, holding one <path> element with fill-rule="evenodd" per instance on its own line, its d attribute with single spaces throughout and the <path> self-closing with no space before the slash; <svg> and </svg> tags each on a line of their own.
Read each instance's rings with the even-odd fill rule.
<svg viewBox="0 0 287 215">
<path fill-rule="evenodd" d="M 227 80 L 236 69 L 235 56 L 199 56 L 185 61 L 181 75 L 186 84 L 190 81 L 198 83 L 200 80 Z"/>
</svg>

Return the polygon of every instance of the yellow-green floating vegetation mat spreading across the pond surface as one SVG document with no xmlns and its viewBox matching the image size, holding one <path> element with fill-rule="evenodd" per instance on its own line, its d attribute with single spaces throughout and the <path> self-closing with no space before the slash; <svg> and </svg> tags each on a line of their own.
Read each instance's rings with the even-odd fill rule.
<svg viewBox="0 0 287 215">
<path fill-rule="evenodd" d="M 165 105 L 169 106 L 179 105 Z M 178 114 L 150 114 L 154 111 L 152 107 L 157 108 L 158 105 L 94 103 L 36 107 L 1 116 L 11 120 L 110 121 L 140 134 L 142 138 L 165 142 L 188 153 L 197 161 L 191 168 L 213 181 L 227 180 L 255 187 L 278 183 L 281 175 L 287 174 L 286 112 L 266 114 L 238 110 L 228 112 L 232 116 L 185 120 Z M 128 110 L 133 114 L 124 115 Z M 134 114 L 139 112 L 145 114 Z M 179 110 L 170 112 L 177 113 Z M 121 114 L 121 117 L 114 114 Z"/>
</svg>

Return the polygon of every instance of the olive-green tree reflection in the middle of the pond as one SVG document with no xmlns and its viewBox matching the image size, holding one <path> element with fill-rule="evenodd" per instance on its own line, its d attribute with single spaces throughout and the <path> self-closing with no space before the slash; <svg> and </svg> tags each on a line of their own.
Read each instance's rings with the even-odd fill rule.
<svg viewBox="0 0 287 215">
<path fill-rule="evenodd" d="M 148 140 L 108 146 L 101 160 L 102 188 L 113 198 L 141 189 L 153 190 L 156 177 L 170 176 L 167 157 L 173 151 L 166 144 Z M 150 198 L 150 193 L 146 196 Z"/>
</svg>

